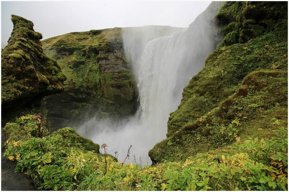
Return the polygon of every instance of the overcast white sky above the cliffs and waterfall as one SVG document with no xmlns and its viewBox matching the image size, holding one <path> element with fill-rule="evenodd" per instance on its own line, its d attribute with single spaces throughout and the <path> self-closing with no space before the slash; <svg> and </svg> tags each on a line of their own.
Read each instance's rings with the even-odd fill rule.
<svg viewBox="0 0 289 192">
<path fill-rule="evenodd" d="M 34 23 L 43 39 L 74 31 L 170 25 L 188 27 L 210 1 L 1 1 L 1 47 L 13 29 L 11 14 Z"/>
</svg>

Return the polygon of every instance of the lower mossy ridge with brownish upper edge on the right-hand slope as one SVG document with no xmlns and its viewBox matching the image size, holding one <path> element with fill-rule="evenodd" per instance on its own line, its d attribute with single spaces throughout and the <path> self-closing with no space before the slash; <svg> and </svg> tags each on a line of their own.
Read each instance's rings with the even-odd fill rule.
<svg viewBox="0 0 289 192">
<path fill-rule="evenodd" d="M 276 126 L 268 126 L 271 119 L 287 126 L 287 72 L 263 70 L 244 78 L 238 91 L 220 106 L 155 145 L 149 156 L 155 162 L 185 160 L 199 152 L 227 146 L 235 138 L 270 138 Z"/>
</svg>

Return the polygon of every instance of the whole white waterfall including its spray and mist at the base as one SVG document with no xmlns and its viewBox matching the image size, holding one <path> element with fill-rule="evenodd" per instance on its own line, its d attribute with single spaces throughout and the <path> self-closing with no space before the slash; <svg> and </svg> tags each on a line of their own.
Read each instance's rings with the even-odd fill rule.
<svg viewBox="0 0 289 192">
<path fill-rule="evenodd" d="M 205 58 L 216 47 L 218 35 L 212 18 L 220 5 L 215 4 L 212 9 L 211 3 L 210 10 L 199 15 L 189 28 L 153 39 L 145 46 L 136 45 L 129 30 L 125 29 L 123 47 L 138 82 L 138 115 L 117 123 L 95 117 L 80 126 L 77 132 L 100 145 L 106 143 L 108 153 L 118 151 L 121 161 L 126 157 L 128 147 L 133 145 L 130 157 L 135 154 L 137 160 L 141 156 L 142 164 L 150 163 L 148 151 L 166 138 L 169 113 L 177 109 L 183 88 L 190 77 L 201 70 Z M 126 161 L 131 162 L 133 158 Z"/>
</svg>

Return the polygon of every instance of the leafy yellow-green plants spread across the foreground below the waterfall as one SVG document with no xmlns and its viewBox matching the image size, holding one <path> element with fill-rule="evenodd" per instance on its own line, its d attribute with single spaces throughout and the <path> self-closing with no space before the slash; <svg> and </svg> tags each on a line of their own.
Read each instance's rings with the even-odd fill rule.
<svg viewBox="0 0 289 192">
<path fill-rule="evenodd" d="M 288 130 L 277 119 L 272 138 L 241 141 L 226 149 L 198 153 L 184 162 L 155 166 L 122 165 L 98 152 L 99 145 L 64 128 L 33 136 L 37 115 L 7 123 L 10 133 L 4 156 L 16 170 L 33 178 L 38 189 L 50 190 L 286 190 Z M 17 134 L 20 133 L 20 134 Z M 42 145 L 42 146 L 41 146 Z M 95 150 L 95 151 L 90 151 Z"/>
</svg>

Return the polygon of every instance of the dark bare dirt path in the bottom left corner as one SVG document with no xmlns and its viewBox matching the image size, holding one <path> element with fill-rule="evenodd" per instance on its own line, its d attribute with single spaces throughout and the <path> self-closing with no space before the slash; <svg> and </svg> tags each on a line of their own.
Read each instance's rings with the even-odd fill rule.
<svg viewBox="0 0 289 192">
<path fill-rule="evenodd" d="M 1 130 L 1 146 L 6 141 L 5 133 Z M 1 147 L 2 153 L 4 148 Z M 14 171 L 16 162 L 2 157 L 1 153 L 1 191 L 36 191 L 31 178 Z"/>
</svg>

